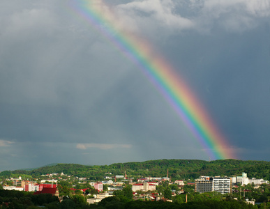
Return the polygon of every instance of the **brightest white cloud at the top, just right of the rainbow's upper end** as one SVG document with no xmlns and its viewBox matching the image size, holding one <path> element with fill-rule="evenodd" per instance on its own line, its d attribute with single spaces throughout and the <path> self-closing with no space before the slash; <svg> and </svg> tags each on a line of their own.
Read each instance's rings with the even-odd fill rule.
<svg viewBox="0 0 270 209">
<path fill-rule="evenodd" d="M 126 25 L 151 31 L 156 29 L 176 30 L 190 29 L 192 20 L 174 12 L 172 0 L 133 1 L 117 6 L 119 14 L 125 16 Z"/>
</svg>

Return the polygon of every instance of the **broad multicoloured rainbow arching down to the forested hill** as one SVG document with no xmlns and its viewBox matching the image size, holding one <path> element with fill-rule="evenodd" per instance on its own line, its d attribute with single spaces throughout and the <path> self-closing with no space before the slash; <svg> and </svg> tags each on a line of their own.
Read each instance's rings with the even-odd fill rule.
<svg viewBox="0 0 270 209">
<path fill-rule="evenodd" d="M 170 103 L 211 160 L 236 158 L 183 79 L 142 38 L 128 33 L 109 7 L 100 1 L 72 1 L 71 8 L 133 61 Z"/>
</svg>

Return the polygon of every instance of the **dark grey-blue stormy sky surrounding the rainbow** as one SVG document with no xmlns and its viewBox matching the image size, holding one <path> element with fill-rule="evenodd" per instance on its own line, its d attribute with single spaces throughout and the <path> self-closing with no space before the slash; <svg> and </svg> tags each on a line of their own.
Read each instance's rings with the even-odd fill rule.
<svg viewBox="0 0 270 209">
<path fill-rule="evenodd" d="M 0 2 L 0 171 L 216 160 L 80 2 Z M 270 0 L 95 3 L 170 64 L 236 159 L 270 160 Z"/>
</svg>

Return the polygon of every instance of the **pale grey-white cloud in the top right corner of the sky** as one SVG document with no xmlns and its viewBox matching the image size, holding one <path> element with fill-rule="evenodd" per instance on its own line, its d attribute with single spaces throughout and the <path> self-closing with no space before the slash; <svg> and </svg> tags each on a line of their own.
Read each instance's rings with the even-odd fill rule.
<svg viewBox="0 0 270 209">
<path fill-rule="evenodd" d="M 217 26 L 225 31 L 241 32 L 255 28 L 260 22 L 258 18 L 269 15 L 270 0 L 205 0 L 195 22 L 197 29 L 204 31 Z"/>
</svg>

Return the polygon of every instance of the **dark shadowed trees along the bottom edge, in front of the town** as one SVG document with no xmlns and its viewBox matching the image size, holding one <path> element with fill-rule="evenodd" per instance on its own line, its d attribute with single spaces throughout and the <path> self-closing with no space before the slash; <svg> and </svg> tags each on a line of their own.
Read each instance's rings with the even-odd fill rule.
<svg viewBox="0 0 270 209">
<path fill-rule="evenodd" d="M 131 193 L 132 194 L 132 193 Z M 259 206 L 259 208 L 269 207 L 269 203 Z M 0 189 L 0 208 L 17 208 L 17 209 L 33 209 L 33 208 L 48 208 L 48 209 L 66 209 L 66 208 L 257 208 L 257 206 L 248 205 L 243 201 L 234 199 L 223 200 L 207 200 L 207 201 L 188 201 L 188 203 L 164 202 L 164 201 L 132 201 L 126 197 L 111 196 L 103 199 L 98 204 L 89 205 L 87 199 L 81 194 L 75 194 L 59 201 L 56 196 L 51 194 L 33 195 L 31 192 L 18 192 Z"/>
</svg>

